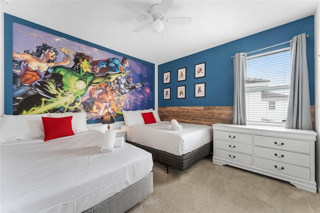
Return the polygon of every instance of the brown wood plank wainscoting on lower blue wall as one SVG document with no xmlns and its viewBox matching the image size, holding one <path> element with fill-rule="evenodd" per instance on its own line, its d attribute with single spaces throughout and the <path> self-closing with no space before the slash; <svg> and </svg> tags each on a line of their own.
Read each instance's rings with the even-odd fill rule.
<svg viewBox="0 0 320 213">
<path fill-rule="evenodd" d="M 314 130 L 315 107 L 311 105 L 310 108 Z M 161 120 L 176 119 L 182 123 L 231 124 L 233 121 L 233 106 L 159 106 L 158 114 Z"/>
</svg>

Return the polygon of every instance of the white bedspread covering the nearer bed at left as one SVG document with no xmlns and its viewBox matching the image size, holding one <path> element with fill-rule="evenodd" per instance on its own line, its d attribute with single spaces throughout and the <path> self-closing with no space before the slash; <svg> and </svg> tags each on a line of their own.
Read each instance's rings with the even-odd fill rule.
<svg viewBox="0 0 320 213">
<path fill-rule="evenodd" d="M 1 212 L 81 212 L 152 170 L 149 152 L 124 143 L 101 153 L 100 138 L 102 132 L 90 130 L 1 146 Z"/>
</svg>

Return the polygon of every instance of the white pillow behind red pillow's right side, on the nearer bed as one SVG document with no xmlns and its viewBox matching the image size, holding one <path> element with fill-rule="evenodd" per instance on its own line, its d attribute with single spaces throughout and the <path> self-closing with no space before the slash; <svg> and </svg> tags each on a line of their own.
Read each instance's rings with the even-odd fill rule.
<svg viewBox="0 0 320 213">
<path fill-rule="evenodd" d="M 48 117 L 72 116 L 71 125 L 73 132 L 87 131 L 86 112 L 48 113 Z"/>
</svg>

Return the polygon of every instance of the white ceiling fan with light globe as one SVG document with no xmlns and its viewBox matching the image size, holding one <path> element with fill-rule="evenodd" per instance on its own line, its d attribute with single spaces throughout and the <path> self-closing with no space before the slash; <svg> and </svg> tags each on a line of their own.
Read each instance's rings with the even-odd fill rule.
<svg viewBox="0 0 320 213">
<path fill-rule="evenodd" d="M 171 24 L 190 24 L 191 18 L 190 17 L 169 17 L 164 19 L 164 15 L 167 10 L 170 8 L 173 0 L 162 0 L 160 4 L 153 4 L 150 7 L 149 12 L 146 12 L 136 6 L 133 6 L 130 3 L 126 3 L 124 5 L 125 8 L 139 14 L 140 16 L 137 17 L 137 20 L 142 21 L 146 18 L 152 19 L 152 22 L 143 24 L 135 29 L 133 32 L 139 32 L 147 27 L 152 27 L 154 32 L 161 32 L 164 28 L 163 23 L 171 23 Z"/>
</svg>

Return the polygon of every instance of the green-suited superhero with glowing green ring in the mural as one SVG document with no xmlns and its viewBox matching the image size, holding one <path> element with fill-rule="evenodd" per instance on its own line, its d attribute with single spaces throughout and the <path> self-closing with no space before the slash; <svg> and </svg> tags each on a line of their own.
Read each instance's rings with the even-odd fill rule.
<svg viewBox="0 0 320 213">
<path fill-rule="evenodd" d="M 71 68 L 53 65 L 42 72 L 40 79 L 32 84 L 37 93 L 24 97 L 17 105 L 14 114 L 37 114 L 58 110 L 81 111 L 81 96 L 86 93 L 90 85 L 113 81 L 130 71 L 96 75 L 91 70 L 92 56 L 81 52 L 74 54 L 73 61 L 74 65 Z"/>
</svg>

